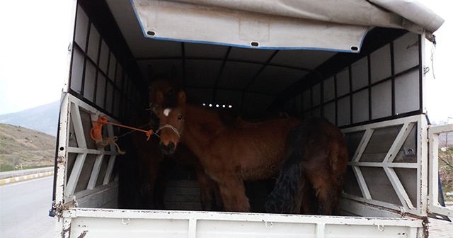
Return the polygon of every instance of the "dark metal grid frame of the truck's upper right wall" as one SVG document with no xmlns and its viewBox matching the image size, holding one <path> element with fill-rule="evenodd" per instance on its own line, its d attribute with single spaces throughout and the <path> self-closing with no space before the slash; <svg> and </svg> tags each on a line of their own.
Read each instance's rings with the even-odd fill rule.
<svg viewBox="0 0 453 238">
<path fill-rule="evenodd" d="M 398 56 L 397 55 L 398 51 L 395 49 L 394 45 L 396 45 L 396 42 L 398 42 L 398 40 L 400 40 L 403 37 L 406 37 L 408 34 L 413 34 L 413 33 L 406 33 L 405 35 L 399 35 L 399 38 L 392 40 L 387 45 L 384 45 L 384 46 L 379 47 L 374 50 L 370 50 L 369 52 L 366 52 L 366 54 L 363 53 L 363 54 L 357 55 L 357 58 L 359 56 L 361 58 L 358 58 L 356 61 L 351 62 L 343 69 L 340 69 L 338 72 L 331 72 L 331 74 L 317 75 L 316 77 L 323 77 L 323 80 L 321 80 L 321 81 L 319 81 L 319 79 L 316 81 L 307 80 L 306 84 L 311 84 L 311 85 L 304 86 L 303 89 L 305 89 L 305 91 L 302 92 L 302 97 L 301 97 L 302 102 L 301 103 L 302 103 L 302 105 L 306 105 L 308 107 L 302 108 L 302 111 L 299 111 L 297 113 L 302 115 L 302 117 L 304 117 L 304 118 L 309 118 L 311 116 L 325 117 L 326 116 L 325 115 L 326 106 L 334 103 L 335 115 L 334 115 L 334 118 L 331 117 L 331 122 L 340 127 L 362 125 L 362 124 L 366 124 L 366 123 L 391 120 L 391 119 L 402 118 L 405 116 L 418 115 L 418 114 L 423 113 L 423 108 L 424 108 L 424 106 L 423 106 L 423 99 L 424 99 L 423 98 L 423 86 L 424 86 L 424 82 L 425 82 L 425 80 L 423 80 L 423 65 L 424 65 L 423 49 L 425 48 L 424 47 L 425 42 L 423 40 L 423 39 L 425 39 L 424 35 L 418 35 L 417 42 L 415 42 L 415 44 L 418 45 L 418 47 L 417 47 L 417 52 L 418 52 L 417 64 L 406 66 L 404 69 L 402 69 L 402 70 L 399 69 L 398 71 L 396 71 L 397 64 L 395 62 L 396 61 L 395 58 Z M 408 47 L 406 47 L 406 50 L 410 49 L 412 46 L 408 45 Z M 375 52 L 382 50 L 382 48 L 384 48 L 384 47 L 389 48 L 388 49 L 389 50 L 388 51 L 389 62 L 386 62 L 386 63 L 389 64 L 390 74 L 388 77 L 384 77 L 382 79 L 372 81 L 372 72 L 375 70 L 374 68 L 372 68 L 372 60 L 371 60 L 372 55 Z M 400 48 L 398 48 L 398 50 L 401 51 L 401 45 L 400 45 Z M 399 53 L 402 54 L 401 52 L 399 52 Z M 404 52 L 404 53 L 407 53 L 407 52 Z M 361 68 L 361 67 L 355 68 L 355 66 L 357 66 L 356 64 L 358 64 L 362 61 L 365 62 L 365 64 L 363 64 L 364 66 L 362 66 L 363 68 Z M 356 70 L 356 71 L 365 70 L 366 76 L 355 75 L 355 74 L 353 74 L 354 70 Z M 322 72 L 321 69 L 316 69 L 316 71 Z M 396 108 L 397 108 L 396 82 L 398 82 L 397 79 L 398 78 L 403 79 L 403 77 L 407 77 L 408 75 L 415 74 L 415 73 L 417 74 L 417 77 L 416 78 L 413 77 L 413 79 L 411 79 L 411 81 L 413 81 L 414 83 L 415 82 L 418 83 L 418 89 L 415 92 L 416 96 L 418 96 L 418 103 L 417 103 L 418 106 L 416 109 L 414 108 L 411 111 L 405 111 L 403 113 L 398 112 L 398 111 L 396 111 Z M 344 75 L 346 75 L 346 77 L 348 78 L 349 85 L 348 85 L 348 91 L 346 93 L 338 96 L 338 90 L 339 90 L 338 76 L 340 74 L 343 74 L 343 77 L 344 77 Z M 360 79 L 362 79 L 363 81 L 367 81 L 367 84 L 354 87 L 353 82 L 360 81 Z M 324 83 L 326 83 L 327 80 L 333 80 L 333 84 L 334 84 L 333 93 L 335 94 L 334 98 L 331 98 L 328 100 L 326 100 L 326 98 L 324 98 L 324 96 L 323 96 L 323 93 L 325 92 Z M 374 109 L 372 107 L 373 99 L 374 99 L 374 101 L 378 101 L 379 99 L 373 98 L 373 95 L 375 96 L 377 94 L 372 94 L 372 89 L 377 89 L 379 86 L 382 86 L 386 83 L 391 84 L 391 87 L 389 89 L 389 95 L 391 98 L 391 103 L 390 103 L 391 105 L 389 105 L 389 106 L 391 106 L 391 113 L 389 113 L 388 115 L 379 115 L 379 116 L 374 115 L 373 116 L 373 114 L 372 114 L 373 109 Z M 316 90 L 316 92 L 315 92 L 315 90 Z M 361 93 L 367 94 L 367 100 L 368 100 L 367 106 L 358 106 L 360 104 L 361 100 L 356 99 L 355 97 Z M 415 96 L 415 94 L 411 95 L 411 96 Z M 345 101 L 348 101 L 348 112 L 343 112 L 345 114 L 348 114 L 347 123 L 341 121 L 339 118 L 340 111 L 342 111 L 342 109 L 340 108 L 338 102 L 341 101 L 342 99 Z M 355 103 L 357 103 L 357 105 L 355 105 Z M 343 108 L 343 110 L 344 110 L 344 108 Z M 357 113 L 357 111 L 363 111 L 363 110 L 367 111 L 366 119 L 357 120 L 354 115 Z M 345 118 L 345 117 L 346 116 L 343 116 L 343 118 Z"/>
</svg>

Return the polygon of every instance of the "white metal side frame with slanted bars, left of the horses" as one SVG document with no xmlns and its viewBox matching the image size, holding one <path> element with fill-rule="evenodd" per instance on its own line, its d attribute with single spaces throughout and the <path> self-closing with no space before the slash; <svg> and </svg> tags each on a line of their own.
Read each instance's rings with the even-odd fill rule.
<svg viewBox="0 0 453 238">
<path fill-rule="evenodd" d="M 57 174 L 55 175 L 57 177 L 57 181 L 55 183 L 55 204 L 71 206 L 71 203 L 73 203 L 73 205 L 74 203 L 79 203 L 79 205 L 81 205 L 81 200 L 79 200 L 79 198 L 84 198 L 84 200 L 87 201 L 84 206 L 90 206 L 90 203 L 97 203 L 96 200 L 92 199 L 99 196 L 99 191 L 117 187 L 117 181 L 112 181 L 113 178 L 111 178 L 115 158 L 118 155 L 116 147 L 115 145 L 110 144 L 110 150 L 105 150 L 104 148 L 88 149 L 86 142 L 87 139 L 84 135 L 84 128 L 81 120 L 81 110 L 90 113 L 91 120 L 95 121 L 98 118 L 98 115 L 104 115 L 101 111 L 89 106 L 87 103 L 84 103 L 75 96 L 72 96 L 71 94 L 64 94 L 64 97 L 62 98 L 62 108 L 60 111 Z M 118 123 L 112 119 L 110 119 L 110 121 Z M 77 147 L 69 146 L 69 125 L 71 122 L 72 125 L 74 125 Z M 94 125 L 94 123 L 92 125 Z M 107 128 L 108 137 L 114 137 L 115 134 L 113 125 L 105 125 L 105 127 Z M 88 140 L 91 140 L 91 138 Z M 66 173 L 67 158 L 69 153 L 77 154 L 71 174 Z M 82 191 L 75 192 L 81 170 L 88 154 L 96 155 L 96 161 L 91 169 L 88 186 Z M 96 181 L 99 179 L 99 171 L 105 155 L 109 155 L 110 159 L 105 171 L 105 176 L 101 178 L 103 180 L 102 185 L 96 187 Z M 117 178 L 115 178 L 115 180 L 117 180 Z M 114 199 L 116 199 L 116 196 Z"/>
</svg>

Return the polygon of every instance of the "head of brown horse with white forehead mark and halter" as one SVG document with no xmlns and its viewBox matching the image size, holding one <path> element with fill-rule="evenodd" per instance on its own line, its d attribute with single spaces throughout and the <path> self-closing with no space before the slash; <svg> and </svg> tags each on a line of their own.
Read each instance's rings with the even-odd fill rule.
<svg viewBox="0 0 453 238">
<path fill-rule="evenodd" d="M 157 91 L 156 103 L 159 107 L 154 109 L 154 113 L 161 125 L 158 130 L 161 137 L 159 147 L 162 153 L 171 155 L 175 152 L 183 132 L 186 95 L 184 91 L 171 95 Z"/>
</svg>

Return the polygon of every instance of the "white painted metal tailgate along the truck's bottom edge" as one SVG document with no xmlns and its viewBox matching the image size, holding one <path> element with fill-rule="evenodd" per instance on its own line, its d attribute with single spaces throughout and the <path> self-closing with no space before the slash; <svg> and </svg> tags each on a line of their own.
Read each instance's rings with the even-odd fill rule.
<svg viewBox="0 0 453 238">
<path fill-rule="evenodd" d="M 80 237 L 423 237 L 417 219 L 71 208 Z"/>
</svg>

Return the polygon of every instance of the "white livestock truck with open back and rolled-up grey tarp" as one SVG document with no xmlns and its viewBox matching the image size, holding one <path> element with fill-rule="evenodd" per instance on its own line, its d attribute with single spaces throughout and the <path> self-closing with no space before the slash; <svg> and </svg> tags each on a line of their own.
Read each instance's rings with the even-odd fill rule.
<svg viewBox="0 0 453 238">
<path fill-rule="evenodd" d="M 417 1 L 71 3 L 56 237 L 428 237 L 428 217 L 453 216 L 437 186 L 438 136 L 453 127 L 425 111 L 425 47 L 443 19 Z M 201 210 L 188 170 L 168 181 L 166 210 L 134 205 L 134 151 L 118 150 L 130 133 L 103 126 L 119 145 L 103 147 L 90 132 L 99 116 L 128 125 L 148 106 L 151 74 L 172 67 L 207 109 L 336 124 L 350 154 L 336 215 Z"/>
</svg>

